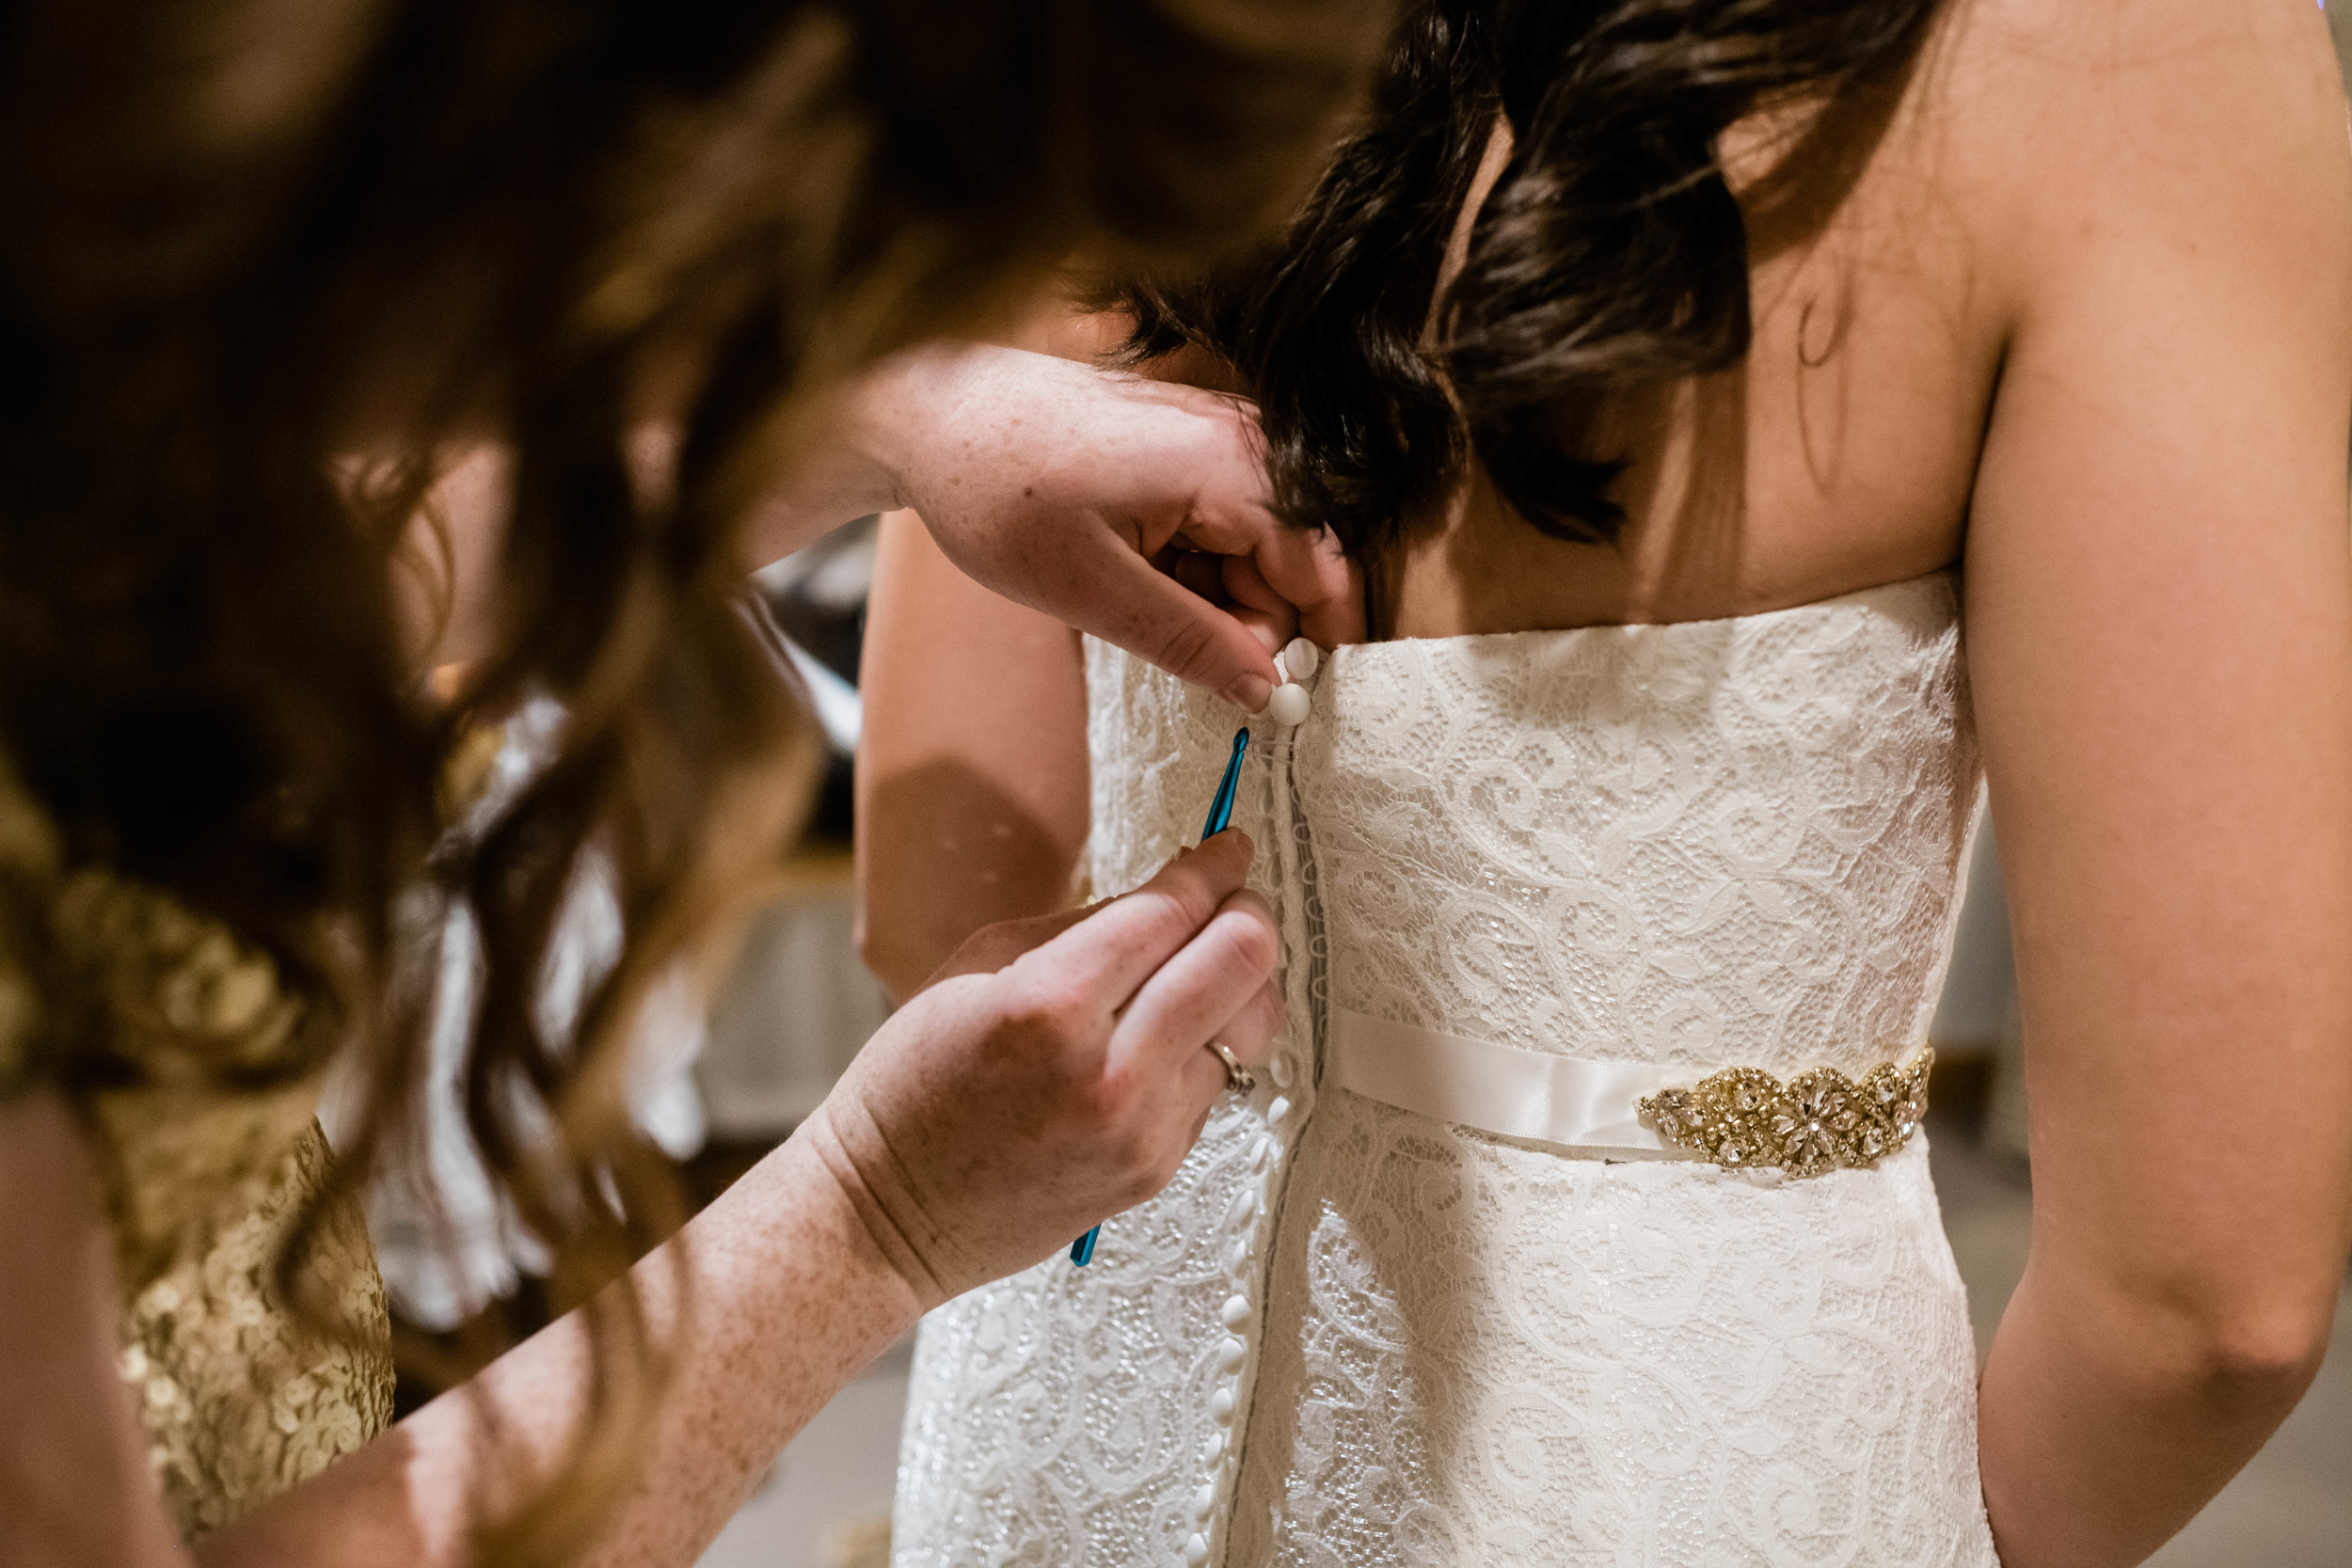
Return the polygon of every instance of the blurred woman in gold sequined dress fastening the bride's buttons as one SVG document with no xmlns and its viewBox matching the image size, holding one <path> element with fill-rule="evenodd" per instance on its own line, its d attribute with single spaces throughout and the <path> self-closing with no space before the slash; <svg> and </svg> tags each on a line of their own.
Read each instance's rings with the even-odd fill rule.
<svg viewBox="0 0 2352 1568">
<path fill-rule="evenodd" d="M 0 1559 L 689 1563 L 922 1307 L 1164 1180 L 1225 1081 L 1209 1046 L 1256 1060 L 1272 1027 L 1237 839 L 1096 919 L 985 933 L 595 1291 L 677 1222 L 619 1041 L 800 804 L 797 715 L 729 607 L 746 567 L 920 501 L 981 578 L 1263 701 L 1265 654 L 1145 564 L 1183 534 L 1324 567 L 1272 529 L 1242 411 L 915 346 L 1075 252 L 1185 259 L 1279 214 L 1364 26 L 1279 0 L 7 12 Z M 412 529 L 480 442 L 499 527 Z M 463 736 L 536 693 L 569 710 L 560 755 L 445 839 Z M 628 947 L 555 1027 L 534 999 L 583 846 Z M 586 1305 L 383 1432 L 350 1197 L 407 1131 L 402 933 L 452 900 L 485 947 L 470 1128 Z M 339 1053 L 365 1093 L 329 1157 Z"/>
</svg>

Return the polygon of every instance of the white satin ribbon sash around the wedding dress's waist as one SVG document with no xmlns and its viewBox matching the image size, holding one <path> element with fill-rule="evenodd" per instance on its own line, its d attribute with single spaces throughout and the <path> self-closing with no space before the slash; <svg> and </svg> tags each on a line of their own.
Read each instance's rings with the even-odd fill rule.
<svg viewBox="0 0 2352 1568">
<path fill-rule="evenodd" d="M 1588 1063 L 1345 1009 L 1324 1048 L 1324 1081 L 1383 1105 L 1606 1159 L 1693 1159 L 1637 1119 L 1642 1095 L 1703 1077 L 1691 1067 Z"/>
</svg>

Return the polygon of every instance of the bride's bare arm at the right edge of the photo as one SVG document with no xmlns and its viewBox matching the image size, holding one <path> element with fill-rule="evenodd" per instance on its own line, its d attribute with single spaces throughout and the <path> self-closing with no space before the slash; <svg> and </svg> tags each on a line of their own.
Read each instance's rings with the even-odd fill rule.
<svg viewBox="0 0 2352 1568">
<path fill-rule="evenodd" d="M 2018 14 L 1966 637 L 2034 1237 L 1980 1462 L 2004 1563 L 2100 1568 L 2293 1408 L 2352 1239 L 2352 155 L 2300 0 Z"/>
</svg>

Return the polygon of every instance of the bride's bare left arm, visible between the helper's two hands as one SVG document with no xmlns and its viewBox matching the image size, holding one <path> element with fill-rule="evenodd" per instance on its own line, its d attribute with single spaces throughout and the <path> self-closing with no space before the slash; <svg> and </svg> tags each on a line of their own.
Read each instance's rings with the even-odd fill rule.
<svg viewBox="0 0 2352 1568">
<path fill-rule="evenodd" d="M 1087 842 L 1077 632 L 882 520 L 861 658 L 858 947 L 894 997 L 964 938 L 1070 903 Z"/>
</svg>

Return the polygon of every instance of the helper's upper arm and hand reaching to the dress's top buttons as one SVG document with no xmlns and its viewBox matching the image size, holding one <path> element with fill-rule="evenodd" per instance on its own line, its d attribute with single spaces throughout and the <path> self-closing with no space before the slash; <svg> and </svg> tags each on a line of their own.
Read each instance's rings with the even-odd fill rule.
<svg viewBox="0 0 2352 1568">
<path fill-rule="evenodd" d="M 659 425 L 635 442 L 649 489 L 670 444 Z M 767 449 L 793 461 L 755 491 L 746 569 L 854 517 L 913 508 L 974 581 L 1251 712 L 1272 691 L 1272 654 L 1228 595 L 1272 604 L 1324 644 L 1362 618 L 1338 548 L 1275 522 L 1256 409 L 1221 393 L 934 343 L 797 409 Z M 423 668 L 494 646 L 501 473 L 494 447 L 475 449 L 433 496 L 449 548 L 419 536 L 402 562 L 402 618 Z M 1162 571 L 1178 548 L 1230 557 L 1237 576 L 1204 597 L 1192 590 L 1204 583 Z"/>
</svg>

